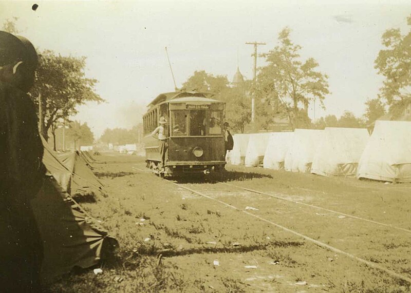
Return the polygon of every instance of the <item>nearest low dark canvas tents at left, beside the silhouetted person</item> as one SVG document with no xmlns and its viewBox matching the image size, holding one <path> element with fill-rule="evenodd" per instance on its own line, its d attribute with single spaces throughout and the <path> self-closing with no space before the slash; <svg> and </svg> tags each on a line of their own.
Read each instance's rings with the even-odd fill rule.
<svg viewBox="0 0 411 293">
<path fill-rule="evenodd" d="M 47 282 L 74 267 L 98 264 L 117 241 L 74 200 L 106 196 L 91 170 L 94 159 L 87 152 L 54 152 L 45 140 L 43 145 L 46 178 L 31 205 L 44 246 L 41 276 Z"/>
</svg>

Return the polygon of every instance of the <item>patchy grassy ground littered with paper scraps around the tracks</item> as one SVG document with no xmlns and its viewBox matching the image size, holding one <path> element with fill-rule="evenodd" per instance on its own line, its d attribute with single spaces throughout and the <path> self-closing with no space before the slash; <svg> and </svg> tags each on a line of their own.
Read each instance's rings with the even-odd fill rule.
<svg viewBox="0 0 411 293">
<path fill-rule="evenodd" d="M 82 206 L 117 238 L 103 273 L 73 272 L 51 292 L 408 292 L 409 284 L 144 171 L 141 158 L 96 157 L 107 198 Z M 228 167 L 225 181 L 410 228 L 411 186 Z M 411 277 L 410 234 L 250 193 L 180 181 L 241 210 Z M 78 199 L 81 201 L 81 199 Z M 218 265 L 217 265 L 218 264 Z"/>
</svg>

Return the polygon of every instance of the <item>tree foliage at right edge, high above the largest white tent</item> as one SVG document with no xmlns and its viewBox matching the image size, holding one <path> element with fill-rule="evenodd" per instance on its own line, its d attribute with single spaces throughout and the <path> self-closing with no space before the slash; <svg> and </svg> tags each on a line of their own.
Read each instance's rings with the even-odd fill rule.
<svg viewBox="0 0 411 293">
<path fill-rule="evenodd" d="M 407 23 L 411 26 L 411 15 Z M 406 105 L 411 101 L 411 29 L 405 35 L 398 28 L 386 30 L 382 44 L 385 49 L 380 50 L 375 60 L 375 68 L 385 77 L 380 97 L 386 99 L 389 106 L 396 100 Z"/>
</svg>

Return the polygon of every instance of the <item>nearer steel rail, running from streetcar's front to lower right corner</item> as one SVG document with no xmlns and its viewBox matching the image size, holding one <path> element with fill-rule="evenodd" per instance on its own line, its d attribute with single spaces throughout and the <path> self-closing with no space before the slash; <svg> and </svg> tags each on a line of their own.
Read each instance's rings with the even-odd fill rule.
<svg viewBox="0 0 411 293">
<path fill-rule="evenodd" d="M 170 182 L 170 181 L 169 181 L 169 182 Z M 274 223 L 274 222 L 272 222 L 272 221 L 270 221 L 270 220 L 264 219 L 263 217 L 257 216 L 256 214 L 253 214 L 253 213 L 248 212 L 248 211 L 246 211 L 246 210 L 239 209 L 239 208 L 237 208 L 237 207 L 235 207 L 235 206 L 233 206 L 233 205 L 231 205 L 231 204 L 228 204 L 228 203 L 226 203 L 226 202 L 223 202 L 223 201 L 220 201 L 220 200 L 215 199 L 215 198 L 213 198 L 213 197 L 207 196 L 207 194 L 204 194 L 204 193 L 202 193 L 202 192 L 196 191 L 196 190 L 191 189 L 191 188 L 189 188 L 189 187 L 185 187 L 185 186 L 180 185 L 180 184 L 175 183 L 175 182 L 170 182 L 170 183 L 172 183 L 172 184 L 174 184 L 174 185 L 176 185 L 176 186 L 178 186 L 178 187 L 184 188 L 184 189 L 186 189 L 186 190 L 189 190 L 189 191 L 192 192 L 192 193 L 198 194 L 198 195 L 201 196 L 201 197 L 204 197 L 204 198 L 207 198 L 207 199 L 209 199 L 209 200 L 218 202 L 218 203 L 220 203 L 220 204 L 222 204 L 222 205 L 225 205 L 225 206 L 227 206 L 227 207 L 230 207 L 230 208 L 232 208 L 232 209 L 241 211 L 241 212 L 243 212 L 243 213 L 245 213 L 245 214 L 248 214 L 248 215 L 251 216 L 251 217 L 254 217 L 254 218 L 259 219 L 259 220 L 261 220 L 261 221 L 263 221 L 263 222 L 266 222 L 266 223 L 269 223 L 269 224 L 271 224 L 271 225 L 273 225 L 273 226 L 276 226 L 276 227 L 278 227 L 278 228 L 281 228 L 281 229 L 283 229 L 283 230 L 285 230 L 285 231 L 287 231 L 287 232 L 290 232 L 290 233 L 292 233 L 292 234 L 294 234 L 294 235 L 296 235 L 296 236 L 298 236 L 298 237 L 301 237 L 301 238 L 303 238 L 303 239 L 305 239 L 305 240 L 307 240 L 307 241 L 309 241 L 309 242 L 312 242 L 312 243 L 314 243 L 314 244 L 316 244 L 316 245 L 318 245 L 318 246 L 320 246 L 320 247 L 326 248 L 326 249 L 331 250 L 331 251 L 333 251 L 333 252 L 340 253 L 341 255 L 344 255 L 344 256 L 349 257 L 349 258 L 351 258 L 351 259 L 353 259 L 353 260 L 356 260 L 356 261 L 358 261 L 358 262 L 360 262 L 360 263 L 363 263 L 363 264 L 367 265 L 368 267 L 378 269 L 378 270 L 383 271 L 383 272 L 385 272 L 386 274 L 390 275 L 391 277 L 401 279 L 401 280 L 406 281 L 406 282 L 408 282 L 409 284 L 411 284 L 411 278 L 408 278 L 408 277 L 406 277 L 406 276 L 400 275 L 400 274 L 398 274 L 398 273 L 395 272 L 395 271 L 389 270 L 389 269 L 387 269 L 387 268 L 385 268 L 385 267 L 382 267 L 382 266 L 377 265 L 377 264 L 375 264 L 375 263 L 372 263 L 372 262 L 369 262 L 369 261 L 364 260 L 364 259 L 362 259 L 362 258 L 359 258 L 359 257 L 357 257 L 357 256 L 355 256 L 355 255 L 352 255 L 352 254 L 349 253 L 349 252 L 346 252 L 346 251 L 343 251 L 343 250 L 338 249 L 338 248 L 336 248 L 336 247 L 333 247 L 333 246 L 331 246 L 331 245 L 325 244 L 324 242 L 315 240 L 315 239 L 313 239 L 313 238 L 311 238 L 311 237 L 308 237 L 308 236 L 306 236 L 306 235 L 304 235 L 304 234 L 302 234 L 302 233 L 300 233 L 300 232 L 294 231 L 294 230 L 292 230 L 292 229 L 289 229 L 289 228 L 287 228 L 287 227 L 284 227 L 284 226 L 282 226 L 282 225 L 279 225 L 279 224 L 277 224 L 277 223 Z"/>
</svg>

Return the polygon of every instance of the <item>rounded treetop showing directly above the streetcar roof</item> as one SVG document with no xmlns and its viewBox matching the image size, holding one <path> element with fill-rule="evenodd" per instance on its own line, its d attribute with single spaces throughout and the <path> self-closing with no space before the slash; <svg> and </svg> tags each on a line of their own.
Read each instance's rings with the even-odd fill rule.
<svg viewBox="0 0 411 293">
<path fill-rule="evenodd" d="M 194 74 L 183 83 L 186 91 L 212 92 L 218 94 L 229 87 L 230 82 L 225 75 L 214 76 L 204 70 L 194 71 Z"/>
</svg>

